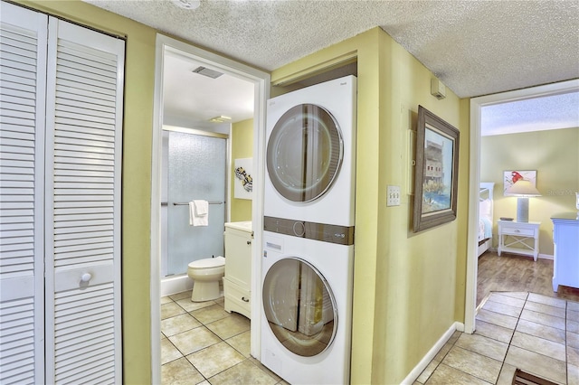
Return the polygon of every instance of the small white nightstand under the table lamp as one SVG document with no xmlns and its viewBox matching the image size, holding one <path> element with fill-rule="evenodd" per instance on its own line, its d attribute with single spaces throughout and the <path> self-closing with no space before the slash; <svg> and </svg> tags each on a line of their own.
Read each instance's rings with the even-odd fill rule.
<svg viewBox="0 0 579 385">
<path fill-rule="evenodd" d="M 539 226 L 541 222 L 498 221 L 498 256 L 508 253 L 539 255 Z"/>
</svg>

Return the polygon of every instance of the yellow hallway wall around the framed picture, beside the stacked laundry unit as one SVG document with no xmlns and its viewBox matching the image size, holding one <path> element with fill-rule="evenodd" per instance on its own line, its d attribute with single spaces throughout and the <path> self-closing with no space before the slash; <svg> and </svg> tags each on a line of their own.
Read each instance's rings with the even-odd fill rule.
<svg viewBox="0 0 579 385">
<path fill-rule="evenodd" d="M 464 313 L 468 134 L 460 138 L 457 221 L 413 234 L 408 129 L 418 105 L 468 130 L 468 106 L 430 94 L 432 73 L 379 28 L 290 63 L 271 80 L 356 52 L 358 121 L 352 383 L 399 383 Z M 465 117 L 465 114 L 467 116 Z M 389 184 L 402 205 L 385 206 Z"/>
</svg>

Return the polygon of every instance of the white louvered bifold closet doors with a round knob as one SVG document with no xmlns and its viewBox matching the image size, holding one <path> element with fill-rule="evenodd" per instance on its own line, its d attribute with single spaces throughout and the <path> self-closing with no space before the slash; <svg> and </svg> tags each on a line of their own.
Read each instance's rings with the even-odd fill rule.
<svg viewBox="0 0 579 385">
<path fill-rule="evenodd" d="M 0 383 L 120 383 L 125 43 L 0 5 Z"/>
</svg>

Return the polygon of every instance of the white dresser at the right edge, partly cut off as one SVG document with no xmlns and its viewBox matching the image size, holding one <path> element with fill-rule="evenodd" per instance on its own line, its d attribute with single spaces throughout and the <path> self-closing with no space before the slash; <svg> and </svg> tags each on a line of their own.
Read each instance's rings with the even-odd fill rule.
<svg viewBox="0 0 579 385">
<path fill-rule="evenodd" d="M 579 215 L 557 214 L 551 221 L 555 243 L 553 291 L 559 285 L 579 288 Z"/>
</svg>

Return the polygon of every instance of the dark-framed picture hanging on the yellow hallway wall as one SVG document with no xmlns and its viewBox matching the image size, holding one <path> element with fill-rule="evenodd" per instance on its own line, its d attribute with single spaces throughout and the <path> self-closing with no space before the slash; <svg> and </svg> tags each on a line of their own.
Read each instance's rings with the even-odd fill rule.
<svg viewBox="0 0 579 385">
<path fill-rule="evenodd" d="M 418 106 L 413 232 L 456 219 L 459 145 L 457 128 Z"/>
</svg>

